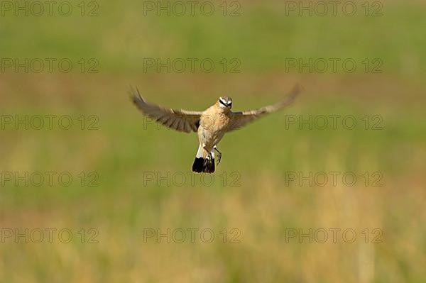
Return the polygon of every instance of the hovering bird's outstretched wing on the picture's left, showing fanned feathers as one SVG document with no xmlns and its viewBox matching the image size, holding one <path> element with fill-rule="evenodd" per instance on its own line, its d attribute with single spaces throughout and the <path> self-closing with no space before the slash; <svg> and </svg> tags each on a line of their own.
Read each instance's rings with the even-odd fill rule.
<svg viewBox="0 0 426 283">
<path fill-rule="evenodd" d="M 200 116 L 202 112 L 186 111 L 182 109 L 166 109 L 164 107 L 148 104 L 139 93 L 138 89 L 130 89 L 133 103 L 146 116 L 153 118 L 158 123 L 173 128 L 176 131 L 190 133 L 196 132 L 200 126 Z"/>
</svg>

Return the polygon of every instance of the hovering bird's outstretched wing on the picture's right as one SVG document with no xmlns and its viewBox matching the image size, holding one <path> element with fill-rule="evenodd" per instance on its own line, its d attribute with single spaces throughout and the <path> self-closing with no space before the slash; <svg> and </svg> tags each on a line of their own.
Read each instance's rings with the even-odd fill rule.
<svg viewBox="0 0 426 283">
<path fill-rule="evenodd" d="M 250 123 L 251 121 L 261 118 L 268 113 L 278 111 L 279 109 L 282 109 L 285 106 L 288 106 L 295 100 L 295 97 L 297 96 L 297 94 L 300 93 L 300 91 L 301 87 L 299 86 L 299 84 L 296 84 L 293 90 L 290 91 L 290 94 L 288 94 L 288 96 L 286 96 L 283 101 L 277 102 L 273 105 L 262 107 L 261 109 L 257 110 L 232 113 L 231 123 L 229 124 L 226 131 L 230 132 L 238 130 L 243 126 L 246 126 L 246 124 Z"/>
</svg>

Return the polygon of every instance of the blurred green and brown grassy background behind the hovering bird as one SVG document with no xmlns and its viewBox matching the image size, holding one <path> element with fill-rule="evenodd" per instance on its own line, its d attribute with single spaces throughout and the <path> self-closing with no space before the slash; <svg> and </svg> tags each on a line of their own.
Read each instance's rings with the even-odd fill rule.
<svg viewBox="0 0 426 283">
<path fill-rule="evenodd" d="M 422 1 L 371 1 L 368 16 L 364 1 L 352 2 L 354 16 L 341 8 L 336 16 L 315 10 L 300 16 L 285 1 L 229 1 L 226 16 L 221 1 L 209 2 L 212 16 L 200 13 L 200 4 L 194 16 L 144 16 L 143 1 L 70 1 L 70 16 L 55 8 L 52 16 L 35 16 L 33 2 L 20 1 L 30 10 L 16 16 L 6 2 L 0 16 L 0 282 L 425 282 Z M 229 16 L 235 9 L 240 16 Z M 371 16 L 377 9 L 381 16 Z M 5 67 L 26 58 L 66 58 L 73 67 L 67 73 L 55 63 L 53 72 Z M 215 68 L 145 72 L 146 58 L 210 58 Z M 224 58 L 238 60 L 240 72 L 223 72 Z M 289 58 L 358 64 L 351 73 L 299 72 L 286 70 Z M 371 66 L 365 72 L 366 59 L 382 62 L 382 72 L 370 72 Z M 148 101 L 195 110 L 228 95 L 238 111 L 278 101 L 296 83 L 304 91 L 293 106 L 226 135 L 213 182 L 190 173 L 196 135 L 158 128 L 126 94 L 132 84 Z M 54 119 L 52 129 L 26 130 L 4 121 L 26 115 L 68 115 L 73 126 L 62 130 Z M 352 115 L 357 125 L 321 130 L 288 123 L 290 116 L 318 115 Z M 366 130 L 362 118 L 373 123 L 376 115 L 382 129 Z M 5 181 L 7 172 L 70 172 L 73 182 L 16 186 L 16 179 Z M 352 187 L 286 184 L 286 172 L 354 172 L 358 181 Z M 364 172 L 379 172 L 383 186 L 373 187 L 372 179 L 366 186 Z M 97 187 L 88 185 L 93 178 Z M 25 243 L 4 237 L 4 229 L 26 228 L 67 228 L 73 238 Z M 91 228 L 98 243 L 87 243 Z M 192 228 L 212 229 L 215 238 L 167 243 L 143 236 L 144 229 Z M 326 243 L 286 241 L 288 229 L 320 228 L 352 228 L 357 238 L 332 243 L 329 233 Z M 375 228 L 383 243 L 371 243 Z M 223 243 L 224 229 L 229 238 L 238 229 L 240 243 Z"/>
</svg>

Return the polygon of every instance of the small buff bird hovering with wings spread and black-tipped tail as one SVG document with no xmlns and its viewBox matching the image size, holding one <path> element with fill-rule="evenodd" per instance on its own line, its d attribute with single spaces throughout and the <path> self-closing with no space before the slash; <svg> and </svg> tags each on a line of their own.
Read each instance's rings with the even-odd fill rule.
<svg viewBox="0 0 426 283">
<path fill-rule="evenodd" d="M 215 104 L 204 111 L 187 111 L 148 103 L 143 99 L 138 88 L 130 87 L 129 93 L 133 104 L 154 121 L 176 131 L 196 132 L 199 146 L 192 164 L 192 172 L 213 173 L 215 170 L 214 152 L 217 152 L 217 165 L 219 165 L 222 160 L 222 152 L 217 149 L 217 144 L 225 133 L 246 126 L 268 113 L 283 109 L 295 100 L 300 91 L 300 85 L 296 84 L 283 100 L 260 109 L 241 112 L 231 111 L 232 99 L 229 96 L 220 96 Z"/>
</svg>

